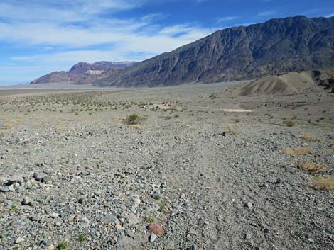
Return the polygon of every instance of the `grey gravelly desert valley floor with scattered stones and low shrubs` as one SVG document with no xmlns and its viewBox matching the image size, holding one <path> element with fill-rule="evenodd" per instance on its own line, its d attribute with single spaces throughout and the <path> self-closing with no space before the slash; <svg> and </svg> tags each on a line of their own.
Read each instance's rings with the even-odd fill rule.
<svg viewBox="0 0 334 250">
<path fill-rule="evenodd" d="M 1 90 L 0 249 L 334 249 L 334 94 L 243 85 Z"/>
</svg>

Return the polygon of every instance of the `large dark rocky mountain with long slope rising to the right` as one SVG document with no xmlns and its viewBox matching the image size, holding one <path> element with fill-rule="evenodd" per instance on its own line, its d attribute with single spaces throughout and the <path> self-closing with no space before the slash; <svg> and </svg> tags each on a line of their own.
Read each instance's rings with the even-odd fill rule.
<svg viewBox="0 0 334 250">
<path fill-rule="evenodd" d="M 94 84 L 172 86 L 334 67 L 334 17 L 271 19 L 219 30 Z"/>
</svg>

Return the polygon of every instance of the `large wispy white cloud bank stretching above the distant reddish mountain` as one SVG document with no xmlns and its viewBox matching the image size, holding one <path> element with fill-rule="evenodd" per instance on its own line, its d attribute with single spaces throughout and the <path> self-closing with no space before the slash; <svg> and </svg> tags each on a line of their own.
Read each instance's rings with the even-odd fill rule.
<svg viewBox="0 0 334 250">
<path fill-rule="evenodd" d="M 6 69 L 17 67 L 17 71 L 31 75 L 27 63 L 31 69 L 45 69 L 43 65 L 64 69 L 81 61 L 139 61 L 174 50 L 214 31 L 194 23 L 158 25 L 157 20 L 168 18 L 165 13 L 117 18 L 119 11 L 143 4 L 146 0 L 1 1 L 0 42 L 41 47 L 36 55 L 7 58 L 17 64 Z"/>
</svg>

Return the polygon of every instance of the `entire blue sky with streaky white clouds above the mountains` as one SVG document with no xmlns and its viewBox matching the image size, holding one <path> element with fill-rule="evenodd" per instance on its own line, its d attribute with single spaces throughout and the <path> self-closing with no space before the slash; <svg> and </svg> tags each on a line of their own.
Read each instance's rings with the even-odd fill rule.
<svg viewBox="0 0 334 250">
<path fill-rule="evenodd" d="M 334 16 L 333 0 L 1 0 L 0 85 L 77 62 L 141 61 L 235 25 Z"/>
</svg>

